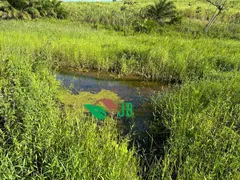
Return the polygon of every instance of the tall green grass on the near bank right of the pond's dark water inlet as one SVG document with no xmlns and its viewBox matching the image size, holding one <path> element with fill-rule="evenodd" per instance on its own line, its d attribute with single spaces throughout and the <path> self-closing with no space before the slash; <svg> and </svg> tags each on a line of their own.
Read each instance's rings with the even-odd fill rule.
<svg viewBox="0 0 240 180">
<path fill-rule="evenodd" d="M 229 79 L 189 82 L 155 99 L 155 127 L 163 123 L 171 136 L 152 178 L 240 177 L 239 80 L 239 74 L 232 74 Z"/>
</svg>

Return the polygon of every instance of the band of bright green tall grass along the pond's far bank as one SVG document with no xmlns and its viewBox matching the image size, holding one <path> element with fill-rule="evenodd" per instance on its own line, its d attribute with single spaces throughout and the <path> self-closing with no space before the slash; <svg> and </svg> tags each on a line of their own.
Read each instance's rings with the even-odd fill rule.
<svg viewBox="0 0 240 180">
<path fill-rule="evenodd" d="M 69 28 L 71 26 L 71 28 Z M 47 28 L 46 28 L 47 27 Z M 68 21 L 2 21 L 0 47 L 75 68 L 138 74 L 164 81 L 238 71 L 239 42 L 174 34 L 123 36 Z"/>
</svg>

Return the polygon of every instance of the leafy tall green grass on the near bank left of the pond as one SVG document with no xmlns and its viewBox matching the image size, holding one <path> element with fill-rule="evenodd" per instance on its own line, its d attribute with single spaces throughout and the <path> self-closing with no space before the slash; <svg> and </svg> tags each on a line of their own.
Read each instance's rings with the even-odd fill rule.
<svg viewBox="0 0 240 180">
<path fill-rule="evenodd" d="M 5 49 L 0 63 L 1 179 L 138 179 L 115 121 L 69 114 L 47 61 Z"/>
</svg>

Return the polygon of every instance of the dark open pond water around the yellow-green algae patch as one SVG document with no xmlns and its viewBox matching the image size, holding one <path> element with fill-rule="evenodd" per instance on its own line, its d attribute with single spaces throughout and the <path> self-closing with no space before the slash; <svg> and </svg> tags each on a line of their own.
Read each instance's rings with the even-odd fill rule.
<svg viewBox="0 0 240 180">
<path fill-rule="evenodd" d="M 116 93 L 125 102 L 131 102 L 134 116 L 121 119 L 124 124 L 124 134 L 135 134 L 136 139 L 141 139 L 141 146 L 148 146 L 147 139 L 149 137 L 146 136 L 148 136 L 149 125 L 154 118 L 151 98 L 157 93 L 164 94 L 169 89 L 168 86 L 158 82 L 143 81 L 135 77 L 116 80 L 112 75 L 94 72 L 80 74 L 58 72 L 57 80 L 61 81 L 62 86 L 71 90 L 73 94 L 78 94 L 81 91 L 98 93 L 105 89 Z"/>
</svg>

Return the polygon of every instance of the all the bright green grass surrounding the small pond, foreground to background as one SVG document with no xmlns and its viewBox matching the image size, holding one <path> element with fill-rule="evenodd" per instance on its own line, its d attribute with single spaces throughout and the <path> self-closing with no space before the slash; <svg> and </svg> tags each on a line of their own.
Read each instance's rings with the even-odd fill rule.
<svg viewBox="0 0 240 180">
<path fill-rule="evenodd" d="M 141 179 L 147 168 L 148 179 L 240 178 L 239 4 L 208 34 L 213 9 L 203 1 L 176 1 L 181 23 L 134 32 L 152 2 L 124 13 L 122 3 L 64 3 L 67 20 L 0 21 L 0 177 Z M 83 97 L 59 90 L 59 66 L 181 82 L 153 98 L 150 133 L 170 132 L 158 161 L 140 167 L 116 122 L 66 107 Z"/>
</svg>

